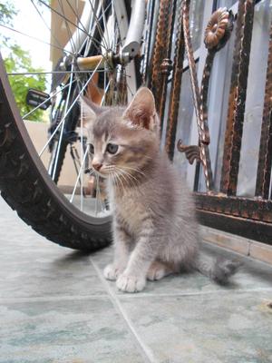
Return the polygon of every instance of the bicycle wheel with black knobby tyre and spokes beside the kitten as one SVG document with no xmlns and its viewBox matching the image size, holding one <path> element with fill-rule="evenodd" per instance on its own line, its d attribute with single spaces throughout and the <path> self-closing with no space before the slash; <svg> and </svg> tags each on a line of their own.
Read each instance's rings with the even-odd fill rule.
<svg viewBox="0 0 272 363">
<path fill-rule="evenodd" d="M 92 7 L 88 24 L 83 24 L 83 17 L 80 18 L 77 6 L 73 7 L 71 1 L 59 0 L 58 8 L 42 0 L 40 3 L 62 19 L 70 36 L 70 49 L 67 45 L 63 47 L 63 55 L 53 73 L 59 75 L 53 77 L 49 98 L 53 103 L 53 123 L 48 122 L 44 127 L 45 133 L 50 127 L 50 137 L 39 153 L 8 82 L 8 76 L 16 74 L 6 74 L 2 57 L 0 59 L 1 195 L 34 231 L 48 240 L 77 250 L 97 250 L 111 240 L 111 213 L 101 197 L 100 181 L 96 181 L 95 198 L 93 193 L 88 193 L 90 180 L 83 173 L 88 157 L 83 128 L 78 127 L 83 126 L 78 99 L 81 94 L 87 94 L 97 103 L 119 104 L 126 103 L 136 91 L 139 74 L 134 64 L 124 66 L 117 60 L 129 19 L 122 2 L 118 9 L 112 1 L 86 2 Z M 65 13 L 67 6 L 73 10 L 77 22 L 71 21 Z M 34 9 L 37 10 L 36 6 Z M 76 28 L 73 35 L 71 24 Z M 54 46 L 60 48 L 56 34 L 53 37 L 58 42 Z M 96 58 L 95 66 L 91 67 L 95 55 L 99 59 Z M 66 151 L 69 148 L 72 162 Z M 41 159 L 48 150 L 51 151 L 50 162 Z M 76 154 L 78 157 L 74 157 Z M 48 155 L 47 152 L 47 159 Z M 74 168 L 71 185 L 61 182 L 65 162 L 70 172 L 73 164 L 78 165 Z"/>
</svg>

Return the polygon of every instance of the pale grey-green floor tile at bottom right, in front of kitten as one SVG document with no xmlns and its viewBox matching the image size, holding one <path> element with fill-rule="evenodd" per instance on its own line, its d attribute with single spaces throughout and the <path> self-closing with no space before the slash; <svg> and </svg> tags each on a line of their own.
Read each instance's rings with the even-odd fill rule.
<svg viewBox="0 0 272 363">
<path fill-rule="evenodd" d="M 120 299 L 160 363 L 272 361 L 272 292 Z"/>
</svg>

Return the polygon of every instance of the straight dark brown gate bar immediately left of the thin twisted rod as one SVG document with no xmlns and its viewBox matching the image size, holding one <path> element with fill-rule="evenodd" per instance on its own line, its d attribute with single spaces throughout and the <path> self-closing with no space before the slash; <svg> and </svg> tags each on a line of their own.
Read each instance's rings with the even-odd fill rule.
<svg viewBox="0 0 272 363">
<path fill-rule="evenodd" d="M 170 91 L 170 104 L 169 104 L 168 124 L 167 124 L 166 144 L 165 144 L 165 150 L 168 153 L 170 160 L 173 160 L 174 150 L 175 150 L 177 123 L 178 123 L 179 106 L 180 106 L 181 79 L 182 79 L 183 61 L 185 53 L 181 2 L 178 8 L 176 36 L 177 40 L 175 45 L 172 86 Z"/>
</svg>

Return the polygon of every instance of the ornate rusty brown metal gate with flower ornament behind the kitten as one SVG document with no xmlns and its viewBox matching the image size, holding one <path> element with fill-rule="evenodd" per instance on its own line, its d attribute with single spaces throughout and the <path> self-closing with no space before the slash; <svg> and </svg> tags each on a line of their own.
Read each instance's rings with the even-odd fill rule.
<svg viewBox="0 0 272 363">
<path fill-rule="evenodd" d="M 156 97 L 165 129 L 165 149 L 173 160 L 176 152 L 184 152 L 193 164 L 194 192 L 199 221 L 209 227 L 229 231 L 253 240 L 272 244 L 272 25 L 269 30 L 266 84 L 261 124 L 255 195 L 238 196 L 238 176 L 245 105 L 248 90 L 255 6 L 253 0 L 239 0 L 237 13 L 227 8 L 217 8 L 206 27 L 204 42 L 207 48 L 201 83 L 198 83 L 197 60 L 192 47 L 189 25 L 189 0 L 160 0 L 157 39 L 153 57 L 160 57 L 160 67 L 153 69 L 151 87 Z M 219 188 L 214 187 L 210 162 L 209 85 L 214 59 L 233 39 L 231 80 L 228 92 L 228 116 L 225 123 L 224 147 Z M 260 39 L 261 41 L 261 39 Z M 174 46 L 172 46 L 174 44 Z M 171 61 L 173 59 L 173 62 Z M 184 62 L 187 59 L 187 66 Z M 179 122 L 180 89 L 182 75 L 189 70 L 198 139 L 195 145 L 184 144 L 177 135 Z M 168 113 L 166 102 L 168 103 Z M 180 120 L 182 123 L 182 120 Z M 223 142 L 222 142 L 223 143 Z M 199 180 L 205 178 L 206 190 L 199 190 Z"/>
</svg>

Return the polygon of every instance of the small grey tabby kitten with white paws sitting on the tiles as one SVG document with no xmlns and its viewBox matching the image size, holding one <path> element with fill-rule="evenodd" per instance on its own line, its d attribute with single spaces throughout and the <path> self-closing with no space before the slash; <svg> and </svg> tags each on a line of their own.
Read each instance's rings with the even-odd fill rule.
<svg viewBox="0 0 272 363">
<path fill-rule="evenodd" d="M 92 168 L 108 180 L 114 259 L 104 269 L 118 289 L 141 291 L 181 269 L 226 283 L 238 265 L 199 252 L 194 201 L 164 152 L 154 97 L 141 88 L 127 108 L 83 100 Z"/>
</svg>

